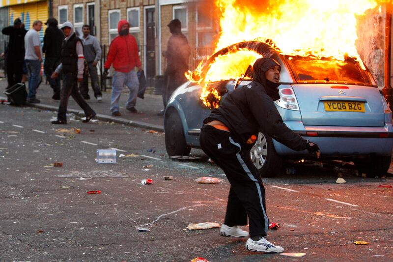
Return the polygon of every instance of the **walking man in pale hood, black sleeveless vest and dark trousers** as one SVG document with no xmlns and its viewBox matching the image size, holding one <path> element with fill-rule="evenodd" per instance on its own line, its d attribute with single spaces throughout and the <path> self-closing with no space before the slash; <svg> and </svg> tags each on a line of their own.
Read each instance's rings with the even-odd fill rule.
<svg viewBox="0 0 393 262">
<path fill-rule="evenodd" d="M 60 89 L 60 104 L 57 112 L 57 119 L 52 121 L 52 124 L 66 124 L 67 123 L 67 105 L 70 95 L 75 102 L 84 110 L 86 119 L 82 122 L 90 121 L 96 113 L 84 101 L 82 95 L 78 90 L 78 82 L 83 80 L 84 72 L 84 53 L 81 38 L 74 32 L 74 26 L 70 22 L 65 22 L 61 26 L 65 38 L 61 45 L 60 64 L 57 66 L 52 78 L 56 79 L 60 73 L 63 76 L 63 85 Z"/>
</svg>

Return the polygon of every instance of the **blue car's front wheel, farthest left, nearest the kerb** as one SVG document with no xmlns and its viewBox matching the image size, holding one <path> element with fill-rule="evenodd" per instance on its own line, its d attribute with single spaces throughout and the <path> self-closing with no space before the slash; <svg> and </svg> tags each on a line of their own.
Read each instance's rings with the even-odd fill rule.
<svg viewBox="0 0 393 262">
<path fill-rule="evenodd" d="M 169 114 L 164 127 L 167 153 L 169 156 L 188 156 L 191 151 L 191 146 L 188 146 L 186 143 L 180 116 L 176 112 L 170 112 Z"/>
</svg>

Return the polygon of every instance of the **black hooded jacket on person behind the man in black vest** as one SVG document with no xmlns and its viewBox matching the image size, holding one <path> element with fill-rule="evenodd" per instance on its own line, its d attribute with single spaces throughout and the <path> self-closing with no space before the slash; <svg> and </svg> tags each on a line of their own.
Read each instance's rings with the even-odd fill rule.
<svg viewBox="0 0 393 262">
<path fill-rule="evenodd" d="M 50 19 L 48 19 L 48 27 L 44 34 L 42 52 L 46 58 L 60 58 L 64 34 L 57 28 L 57 20 L 52 21 Z"/>
</svg>

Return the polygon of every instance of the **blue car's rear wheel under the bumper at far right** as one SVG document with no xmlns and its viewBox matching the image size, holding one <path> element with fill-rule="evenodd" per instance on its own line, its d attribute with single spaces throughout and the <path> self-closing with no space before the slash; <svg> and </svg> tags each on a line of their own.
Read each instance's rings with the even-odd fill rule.
<svg viewBox="0 0 393 262">
<path fill-rule="evenodd" d="M 389 170 L 390 163 L 392 162 L 392 156 L 375 156 L 370 160 L 355 160 L 354 164 L 362 175 L 365 173 L 366 177 L 375 178 L 375 176 L 386 175 Z"/>
</svg>

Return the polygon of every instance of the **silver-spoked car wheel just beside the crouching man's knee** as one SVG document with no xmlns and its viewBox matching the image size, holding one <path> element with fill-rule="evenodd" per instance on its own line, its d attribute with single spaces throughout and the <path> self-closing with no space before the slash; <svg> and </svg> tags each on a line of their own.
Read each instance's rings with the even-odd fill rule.
<svg viewBox="0 0 393 262">
<path fill-rule="evenodd" d="M 271 137 L 259 133 L 250 153 L 251 160 L 262 177 L 273 177 L 281 173 L 282 160 L 274 149 Z"/>
</svg>

